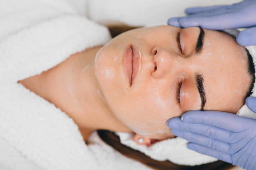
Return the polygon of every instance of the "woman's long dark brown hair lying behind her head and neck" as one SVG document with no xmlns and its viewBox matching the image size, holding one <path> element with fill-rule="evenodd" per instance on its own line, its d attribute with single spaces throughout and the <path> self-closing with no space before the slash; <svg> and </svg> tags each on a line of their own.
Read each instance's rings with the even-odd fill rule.
<svg viewBox="0 0 256 170">
<path fill-rule="evenodd" d="M 134 28 L 138 28 L 138 27 L 121 25 L 121 26 L 109 26 L 108 28 L 110 30 L 110 34 L 112 35 L 112 37 L 115 37 L 122 32 L 131 30 Z M 115 133 L 113 132 L 110 132 L 108 130 L 97 130 L 97 133 L 105 143 L 112 146 L 115 150 L 117 150 L 121 154 L 133 160 L 137 160 L 143 163 L 144 165 L 147 165 L 148 167 L 156 170 L 228 170 L 233 167 L 233 165 L 229 163 L 225 163 L 220 160 L 214 163 L 207 163 L 207 164 L 202 164 L 197 166 L 177 165 L 168 160 L 158 161 L 150 158 L 144 153 L 139 152 L 138 150 L 134 150 L 132 148 L 129 148 L 121 144 L 119 136 L 115 135 Z"/>
</svg>

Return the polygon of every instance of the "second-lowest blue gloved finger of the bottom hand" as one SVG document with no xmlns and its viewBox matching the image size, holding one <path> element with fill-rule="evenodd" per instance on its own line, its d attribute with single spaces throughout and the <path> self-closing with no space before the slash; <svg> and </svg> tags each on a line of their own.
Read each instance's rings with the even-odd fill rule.
<svg viewBox="0 0 256 170">
<path fill-rule="evenodd" d="M 188 140 L 192 143 L 196 143 L 198 145 L 205 146 L 207 148 L 211 148 L 214 150 L 221 151 L 223 153 L 229 153 L 230 151 L 230 145 L 228 143 L 215 140 L 206 136 L 198 135 L 195 133 L 188 133 L 181 130 L 172 130 L 172 134 L 183 138 L 185 140 Z"/>
</svg>

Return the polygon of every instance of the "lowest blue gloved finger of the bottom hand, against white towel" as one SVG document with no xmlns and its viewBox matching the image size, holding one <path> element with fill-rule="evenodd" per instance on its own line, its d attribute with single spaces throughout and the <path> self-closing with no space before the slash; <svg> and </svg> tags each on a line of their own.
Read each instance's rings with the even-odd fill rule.
<svg viewBox="0 0 256 170">
<path fill-rule="evenodd" d="M 218 160 L 223 160 L 227 163 L 232 163 L 231 156 L 227 153 L 222 153 L 220 151 L 213 150 L 205 146 L 197 145 L 195 143 L 188 143 L 187 148 L 195 150 L 196 152 L 202 153 L 204 155 L 212 156 L 214 158 L 217 158 Z"/>
</svg>

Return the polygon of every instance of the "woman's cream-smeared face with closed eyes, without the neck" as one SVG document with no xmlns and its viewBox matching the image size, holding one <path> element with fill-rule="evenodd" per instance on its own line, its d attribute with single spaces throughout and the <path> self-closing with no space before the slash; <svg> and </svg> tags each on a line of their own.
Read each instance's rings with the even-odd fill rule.
<svg viewBox="0 0 256 170">
<path fill-rule="evenodd" d="M 203 31 L 139 28 L 97 53 L 95 75 L 103 95 L 133 132 L 170 138 L 166 121 L 172 117 L 202 107 L 236 113 L 243 105 L 251 82 L 245 49 L 225 33 Z"/>
</svg>

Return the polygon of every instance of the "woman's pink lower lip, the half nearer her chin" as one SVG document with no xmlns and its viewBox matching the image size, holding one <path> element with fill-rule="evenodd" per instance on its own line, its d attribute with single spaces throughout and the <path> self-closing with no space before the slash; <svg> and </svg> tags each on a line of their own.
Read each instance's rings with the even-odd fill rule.
<svg viewBox="0 0 256 170">
<path fill-rule="evenodd" d="M 125 66 L 126 75 L 130 82 L 132 83 L 132 74 L 133 74 L 133 49 L 131 45 L 125 50 L 125 55 L 123 58 L 123 64 Z"/>
</svg>

